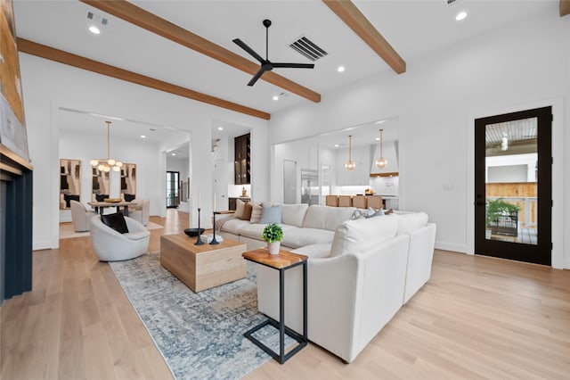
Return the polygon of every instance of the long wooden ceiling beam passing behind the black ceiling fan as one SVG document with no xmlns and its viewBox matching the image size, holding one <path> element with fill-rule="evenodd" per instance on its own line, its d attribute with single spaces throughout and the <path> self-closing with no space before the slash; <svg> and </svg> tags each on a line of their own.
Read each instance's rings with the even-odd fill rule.
<svg viewBox="0 0 570 380">
<path fill-rule="evenodd" d="M 103 12 L 110 13 L 119 19 L 131 22 L 142 29 L 149 30 L 152 33 L 165 37 L 177 44 L 186 46 L 201 54 L 208 55 L 208 57 L 214 58 L 219 62 L 224 62 L 235 69 L 245 71 L 251 75 L 254 75 L 257 70 L 259 70 L 259 64 L 249 61 L 240 54 L 235 54 L 220 45 L 216 45 L 213 42 L 208 41 L 208 39 L 204 37 L 199 37 L 197 34 L 183 29 L 170 21 L 162 19 L 154 13 L 147 12 L 134 4 L 130 4 L 125 0 L 80 1 Z M 320 94 L 307 87 L 303 87 L 288 78 L 281 77 L 281 75 L 276 74 L 273 71 L 265 72 L 261 79 L 315 103 L 321 102 Z"/>
</svg>

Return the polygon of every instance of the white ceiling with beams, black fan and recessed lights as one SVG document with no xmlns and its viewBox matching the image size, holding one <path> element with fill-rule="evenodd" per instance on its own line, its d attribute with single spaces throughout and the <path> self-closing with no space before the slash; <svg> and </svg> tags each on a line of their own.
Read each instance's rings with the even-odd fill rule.
<svg viewBox="0 0 570 380">
<path fill-rule="evenodd" d="M 120 4 L 117 2 L 14 0 L 17 34 L 32 43 L 256 110 L 261 113 L 255 116 L 265 119 L 271 112 L 298 102 L 318 102 L 318 96 L 314 94 L 326 96 L 334 89 L 381 72 L 398 75 L 396 69 L 393 70 L 371 45 L 367 45 L 366 38 L 362 39 L 356 29 L 351 29 L 354 25 L 350 21 L 341 20 L 339 12 L 333 12 L 335 5 L 343 6 L 346 2 L 147 0 L 122 3 L 128 12 L 121 16 L 116 10 L 116 5 Z M 379 33 L 402 60 L 408 62 L 408 70 L 413 70 L 410 62 L 446 45 L 491 32 L 536 12 L 558 13 L 558 7 L 559 12 L 563 11 L 563 3 L 554 0 L 459 0 L 453 5 L 444 0 L 358 0 L 354 5 L 356 12 L 362 12 L 363 20 L 375 29 L 372 34 Z M 133 9 L 140 9 L 140 12 L 133 12 Z M 468 12 L 468 18 L 455 21 L 456 13 L 462 10 Z M 101 17 L 109 21 L 106 26 L 100 26 L 101 34 L 88 31 L 93 21 L 87 19 L 87 12 L 93 12 L 96 20 Z M 175 38 L 163 37 L 164 33 L 159 35 L 157 29 L 149 30 L 143 25 L 144 15 L 162 20 L 174 29 L 185 29 L 190 35 L 198 35 L 223 51 L 247 60 L 246 65 L 251 65 L 254 70 L 255 60 L 233 44 L 232 39 L 240 38 L 260 54 L 264 53 L 264 19 L 273 21 L 269 29 L 269 57 L 273 62 L 310 62 L 289 47 L 303 36 L 309 37 L 328 54 L 315 62 L 314 70 L 275 69 L 270 73 L 306 88 L 309 95 L 298 95 L 280 87 L 280 81 L 273 80 L 270 75 L 267 80 L 259 80 L 254 87 L 248 87 L 251 72 L 220 62 L 208 52 L 202 54 L 181 45 L 180 41 L 173 41 Z M 340 65 L 345 66 L 344 72 L 338 72 Z M 275 95 L 279 100 L 273 100 Z"/>
</svg>

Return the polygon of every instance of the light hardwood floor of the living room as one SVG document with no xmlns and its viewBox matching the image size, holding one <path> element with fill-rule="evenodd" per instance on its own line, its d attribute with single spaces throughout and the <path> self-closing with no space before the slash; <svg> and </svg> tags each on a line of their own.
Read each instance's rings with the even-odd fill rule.
<svg viewBox="0 0 570 380">
<path fill-rule="evenodd" d="M 165 226 L 151 251 L 188 225 L 174 210 L 151 220 Z M 34 252 L 33 280 L 0 310 L 1 379 L 171 378 L 88 237 Z M 246 378 L 568 379 L 570 271 L 436 251 L 428 284 L 352 364 L 309 344 Z"/>
</svg>

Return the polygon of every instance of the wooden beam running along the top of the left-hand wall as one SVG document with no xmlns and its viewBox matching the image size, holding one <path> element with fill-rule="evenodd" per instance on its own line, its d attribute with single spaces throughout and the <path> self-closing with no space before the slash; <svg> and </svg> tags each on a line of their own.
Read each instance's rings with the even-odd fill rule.
<svg viewBox="0 0 570 380">
<path fill-rule="evenodd" d="M 93 71 L 98 74 L 126 80 L 127 82 L 131 82 L 144 87 L 151 87 L 169 94 L 183 96 L 201 103 L 216 105 L 216 107 L 225 108 L 226 110 L 245 113 L 246 115 L 254 116 L 259 119 L 269 120 L 271 118 L 271 115 L 267 112 L 249 108 L 238 103 L 228 102 L 224 99 L 202 94 L 198 91 L 176 86 L 159 79 L 146 77 L 133 71 L 119 69 L 118 67 L 111 66 L 102 62 L 97 62 L 76 54 L 70 54 L 68 52 L 64 52 L 63 50 L 55 49 L 50 46 L 40 45 L 36 42 L 28 41 L 27 39 L 18 38 L 18 50 L 21 53 L 36 55 L 41 58 L 67 64 L 79 69 Z"/>
</svg>

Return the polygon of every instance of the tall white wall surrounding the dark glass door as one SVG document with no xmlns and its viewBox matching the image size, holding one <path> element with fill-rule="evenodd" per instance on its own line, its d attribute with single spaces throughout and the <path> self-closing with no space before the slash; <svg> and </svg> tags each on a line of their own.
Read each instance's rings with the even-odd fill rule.
<svg viewBox="0 0 570 380">
<path fill-rule="evenodd" d="M 437 224 L 437 247 L 473 252 L 473 120 L 553 104 L 552 263 L 570 268 L 570 238 L 562 237 L 570 236 L 570 165 L 563 150 L 570 144 L 563 132 L 570 129 L 568 36 L 567 17 L 535 14 L 408 62 L 403 75 L 367 78 L 323 96 L 318 107 L 301 103 L 275 112 L 270 142 L 399 116 L 400 208 L 428 212 Z M 272 185 L 278 183 L 273 175 Z M 278 192 L 272 187 L 272 197 Z"/>
</svg>

